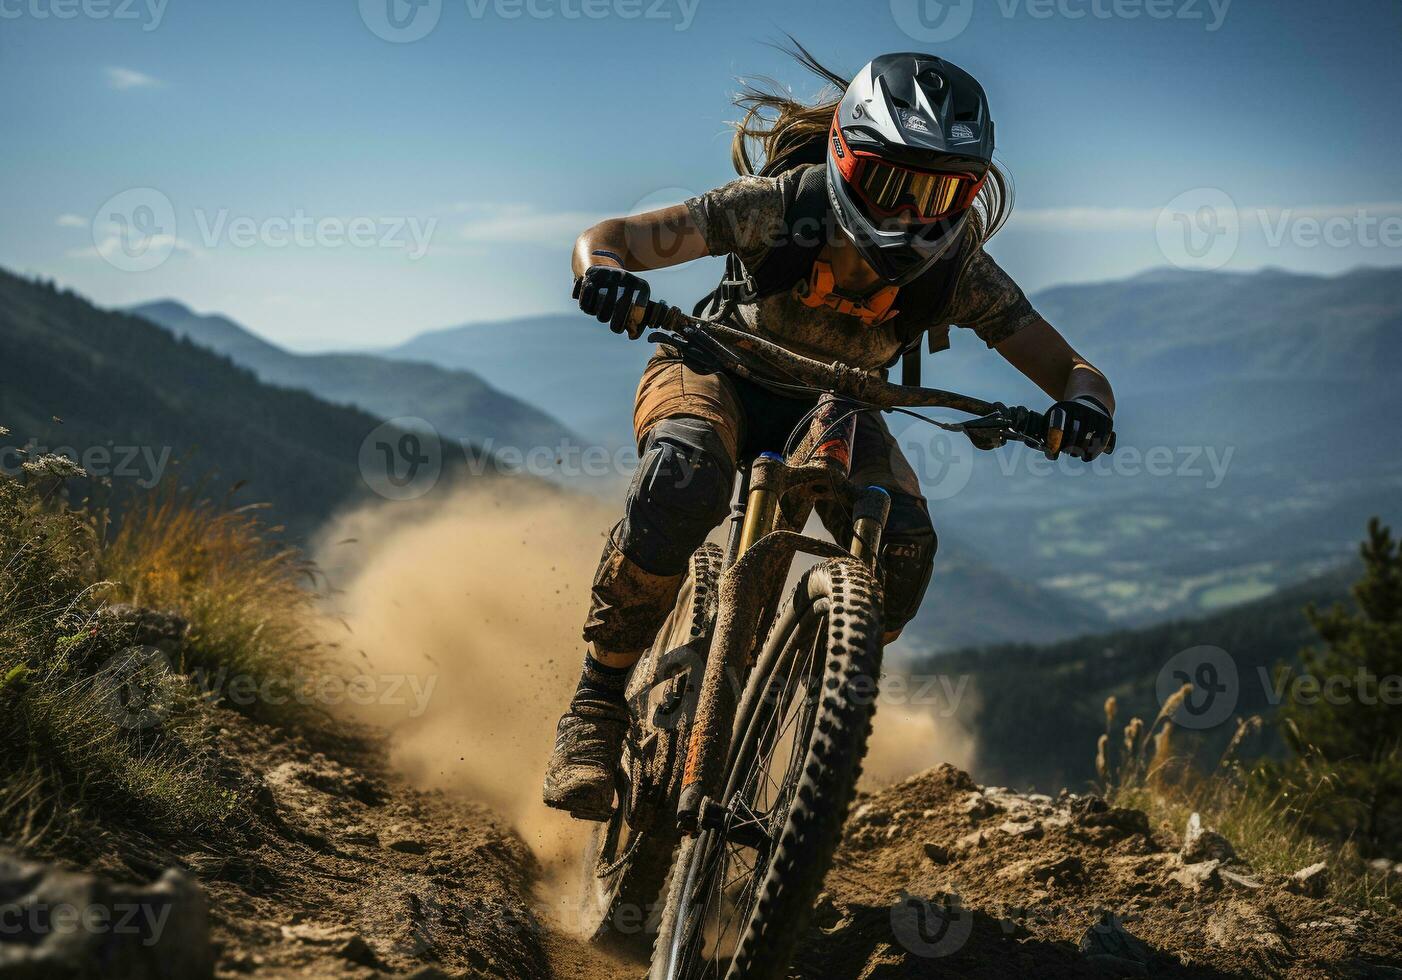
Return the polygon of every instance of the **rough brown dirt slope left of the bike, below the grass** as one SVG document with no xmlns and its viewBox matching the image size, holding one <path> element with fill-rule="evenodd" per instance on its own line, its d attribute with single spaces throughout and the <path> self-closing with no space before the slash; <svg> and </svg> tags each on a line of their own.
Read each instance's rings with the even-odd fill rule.
<svg viewBox="0 0 1402 980">
<path fill-rule="evenodd" d="M 262 773 L 257 827 L 149 855 L 200 879 L 220 977 L 631 976 L 552 925 L 541 866 L 499 815 L 386 777 L 376 736 L 314 747 L 222 722 L 223 751 Z"/>
</svg>

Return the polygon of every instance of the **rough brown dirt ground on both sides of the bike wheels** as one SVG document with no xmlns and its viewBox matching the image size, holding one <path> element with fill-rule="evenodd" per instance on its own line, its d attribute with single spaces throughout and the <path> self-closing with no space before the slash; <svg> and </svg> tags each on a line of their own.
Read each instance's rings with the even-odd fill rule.
<svg viewBox="0 0 1402 980">
<path fill-rule="evenodd" d="M 264 773 L 254 845 L 193 852 L 219 976 L 637 979 L 555 925 L 558 885 L 488 808 L 229 715 Z M 941 767 L 852 812 L 798 980 L 1396 977 L 1402 921 L 1291 893 L 1094 796 L 980 788 Z M 1109 916 L 1109 917 L 1108 917 Z"/>
</svg>

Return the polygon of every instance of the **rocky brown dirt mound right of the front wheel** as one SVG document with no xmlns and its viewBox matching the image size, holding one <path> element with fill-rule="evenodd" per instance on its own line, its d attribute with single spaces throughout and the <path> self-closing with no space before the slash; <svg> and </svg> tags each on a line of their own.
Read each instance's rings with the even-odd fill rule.
<svg viewBox="0 0 1402 980">
<path fill-rule="evenodd" d="M 941 767 L 858 801 L 795 965 L 854 977 L 1398 977 L 1402 921 L 1185 864 L 1172 829 L 1095 796 Z M 1106 918 L 1109 917 L 1109 918 Z"/>
</svg>

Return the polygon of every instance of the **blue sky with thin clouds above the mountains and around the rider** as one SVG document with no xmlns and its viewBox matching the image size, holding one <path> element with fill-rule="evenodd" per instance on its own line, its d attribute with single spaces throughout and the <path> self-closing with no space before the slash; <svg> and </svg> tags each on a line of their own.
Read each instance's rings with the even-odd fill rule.
<svg viewBox="0 0 1402 980">
<path fill-rule="evenodd" d="M 565 310 L 579 230 L 730 177 L 736 76 L 815 94 L 785 31 L 984 83 L 1029 292 L 1402 262 L 1402 4 L 414 3 L 0 0 L 0 265 L 299 349 Z"/>
</svg>

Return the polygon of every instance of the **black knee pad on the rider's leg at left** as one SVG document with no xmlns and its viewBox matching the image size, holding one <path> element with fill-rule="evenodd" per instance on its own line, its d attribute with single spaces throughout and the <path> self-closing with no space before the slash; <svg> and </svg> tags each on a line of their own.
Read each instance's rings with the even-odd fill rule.
<svg viewBox="0 0 1402 980">
<path fill-rule="evenodd" d="M 663 419 L 648 433 L 628 488 L 618 550 L 653 575 L 677 575 L 730 509 L 735 464 L 700 419 Z"/>
</svg>

